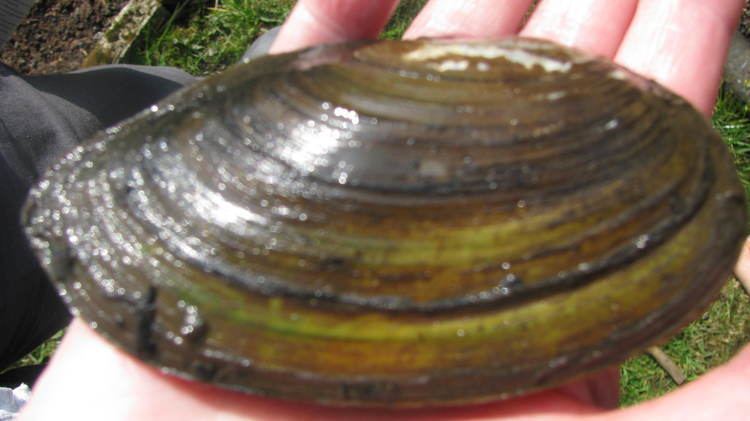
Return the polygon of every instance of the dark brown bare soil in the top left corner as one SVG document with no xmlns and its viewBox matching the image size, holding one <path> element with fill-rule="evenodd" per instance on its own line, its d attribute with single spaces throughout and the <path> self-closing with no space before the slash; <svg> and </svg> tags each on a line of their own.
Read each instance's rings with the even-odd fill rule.
<svg viewBox="0 0 750 421">
<path fill-rule="evenodd" d="M 0 61 L 23 74 L 76 70 L 127 0 L 39 0 Z"/>
</svg>

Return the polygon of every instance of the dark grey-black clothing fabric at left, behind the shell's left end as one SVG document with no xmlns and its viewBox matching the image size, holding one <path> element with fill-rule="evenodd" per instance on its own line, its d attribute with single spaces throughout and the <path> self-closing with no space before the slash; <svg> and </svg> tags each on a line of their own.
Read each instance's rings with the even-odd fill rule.
<svg viewBox="0 0 750 421">
<path fill-rule="evenodd" d="M 141 66 L 23 77 L 0 64 L 0 370 L 70 320 L 21 229 L 34 180 L 97 130 L 193 80 L 176 69 Z"/>
</svg>

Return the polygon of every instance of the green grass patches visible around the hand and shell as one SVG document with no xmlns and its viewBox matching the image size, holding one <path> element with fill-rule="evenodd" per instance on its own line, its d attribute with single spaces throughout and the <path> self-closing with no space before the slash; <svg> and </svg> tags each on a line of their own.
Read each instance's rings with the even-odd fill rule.
<svg viewBox="0 0 750 421">
<path fill-rule="evenodd" d="M 139 64 L 180 67 L 196 75 L 220 71 L 236 62 L 256 36 L 279 25 L 293 3 L 292 0 L 224 0 L 218 7 L 183 6 L 165 25 L 147 32 L 131 59 Z M 383 38 L 399 38 L 424 3 L 425 0 L 402 1 Z M 750 191 L 747 107 L 722 92 L 713 123 L 734 154 L 740 177 Z M 727 361 L 748 341 L 750 298 L 736 280 L 731 280 L 710 309 L 669 341 L 664 350 L 685 371 L 688 380 L 693 380 Z M 53 347 L 43 346 L 29 361 L 44 358 Z M 676 387 L 645 355 L 626 361 L 621 374 L 623 405 L 660 396 Z"/>
</svg>

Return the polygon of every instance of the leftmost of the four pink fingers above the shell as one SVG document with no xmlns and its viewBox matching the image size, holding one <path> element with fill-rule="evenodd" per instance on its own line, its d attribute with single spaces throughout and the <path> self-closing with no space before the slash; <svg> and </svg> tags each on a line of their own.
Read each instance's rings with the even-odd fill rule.
<svg viewBox="0 0 750 421">
<path fill-rule="evenodd" d="M 270 52 L 375 38 L 397 5 L 398 0 L 300 0 Z"/>
</svg>

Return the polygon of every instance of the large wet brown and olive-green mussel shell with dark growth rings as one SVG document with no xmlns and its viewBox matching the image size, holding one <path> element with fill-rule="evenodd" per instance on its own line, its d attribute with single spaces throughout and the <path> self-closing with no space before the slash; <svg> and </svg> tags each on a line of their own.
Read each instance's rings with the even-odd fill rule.
<svg viewBox="0 0 750 421">
<path fill-rule="evenodd" d="M 730 274 L 744 193 L 679 97 L 548 42 L 234 67 L 68 154 L 25 224 L 73 311 L 179 376 L 478 402 L 620 362 Z"/>
</svg>

